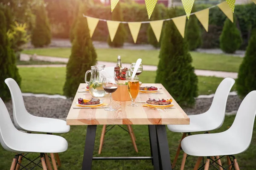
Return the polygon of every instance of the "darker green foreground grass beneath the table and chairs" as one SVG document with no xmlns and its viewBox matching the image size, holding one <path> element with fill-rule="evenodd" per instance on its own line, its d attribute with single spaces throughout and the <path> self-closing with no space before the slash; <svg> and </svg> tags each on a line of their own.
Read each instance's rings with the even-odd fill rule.
<svg viewBox="0 0 256 170">
<path fill-rule="evenodd" d="M 211 133 L 227 130 L 233 123 L 235 116 L 226 116 L 224 124 L 218 130 Z M 126 126 L 123 126 L 126 128 Z M 100 156 L 150 156 L 150 147 L 148 140 L 148 127 L 146 125 L 133 125 L 136 136 L 136 143 L 139 153 L 134 151 L 130 136 L 119 127 L 114 127 L 105 135 L 102 154 Z M 236 156 L 241 170 L 254 170 L 256 167 L 256 124 L 253 130 L 252 143 L 247 151 Z M 102 125 L 97 127 L 96 141 L 93 156 L 99 156 L 99 140 Z M 62 167 L 58 170 L 79 170 L 81 169 L 84 141 L 86 136 L 86 126 L 71 126 L 69 133 L 61 134 L 68 141 L 68 149 L 60 153 Z M 174 159 L 178 142 L 182 136 L 181 133 L 174 133 L 167 130 L 169 151 L 171 160 Z M 221 140 L 221 139 L 220 139 Z M 211 147 L 211 146 L 209 146 Z M 0 147 L 0 170 L 9 170 L 14 153 L 8 152 Z M 175 170 L 180 169 L 183 152 L 180 152 Z M 29 158 L 35 158 L 35 155 L 29 154 Z M 192 170 L 197 157 L 189 156 L 186 160 L 185 170 Z M 222 159 L 223 166 L 227 167 L 226 159 Z M 25 161 L 24 161 L 25 163 Z M 131 160 L 131 161 L 93 161 L 93 170 L 153 170 L 151 161 Z M 36 169 L 36 170 L 39 170 Z M 209 170 L 214 170 L 210 167 Z"/>
</svg>

